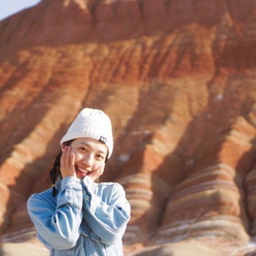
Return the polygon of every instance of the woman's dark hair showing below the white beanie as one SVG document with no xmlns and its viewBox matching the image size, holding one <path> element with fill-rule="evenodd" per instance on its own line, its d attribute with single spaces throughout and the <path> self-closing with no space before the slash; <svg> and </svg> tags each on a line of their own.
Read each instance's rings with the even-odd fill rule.
<svg viewBox="0 0 256 256">
<path fill-rule="evenodd" d="M 72 139 L 70 141 L 66 141 L 63 144 L 66 146 L 69 146 L 72 143 L 72 141 L 74 141 L 74 139 Z M 57 154 L 55 161 L 53 162 L 53 167 L 51 168 L 50 173 L 49 173 L 51 181 L 52 181 L 52 186 L 53 186 L 53 197 L 55 197 L 55 195 L 57 193 L 57 190 L 55 188 L 55 182 L 58 179 L 59 175 L 61 175 L 61 154 L 62 154 L 62 151 L 59 152 L 59 154 Z M 109 152 L 106 154 L 105 163 L 108 160 L 108 155 L 109 155 Z"/>
</svg>

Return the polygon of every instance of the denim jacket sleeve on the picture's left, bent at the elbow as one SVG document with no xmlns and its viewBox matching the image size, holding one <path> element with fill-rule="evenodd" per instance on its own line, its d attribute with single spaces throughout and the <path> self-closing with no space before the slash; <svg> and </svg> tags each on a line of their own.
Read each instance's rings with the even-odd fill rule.
<svg viewBox="0 0 256 256">
<path fill-rule="evenodd" d="M 76 177 L 65 177 L 61 191 L 53 200 L 45 193 L 34 194 L 27 201 L 29 216 L 38 232 L 38 239 L 47 247 L 59 250 L 72 248 L 79 238 L 83 219 L 82 186 Z"/>
</svg>

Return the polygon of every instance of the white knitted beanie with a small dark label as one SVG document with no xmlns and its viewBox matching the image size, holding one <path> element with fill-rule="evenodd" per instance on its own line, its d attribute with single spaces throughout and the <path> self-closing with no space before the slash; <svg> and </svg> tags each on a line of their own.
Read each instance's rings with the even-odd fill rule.
<svg viewBox="0 0 256 256">
<path fill-rule="evenodd" d="M 91 138 L 101 141 L 108 147 L 108 158 L 113 152 L 113 134 L 111 120 L 101 110 L 83 109 L 71 124 L 68 132 L 61 139 L 63 142 L 78 138 Z"/>
</svg>

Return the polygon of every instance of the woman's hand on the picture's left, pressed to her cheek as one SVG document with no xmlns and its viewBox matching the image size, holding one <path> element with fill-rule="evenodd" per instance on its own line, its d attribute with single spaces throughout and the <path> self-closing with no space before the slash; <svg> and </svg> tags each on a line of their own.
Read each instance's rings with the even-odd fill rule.
<svg viewBox="0 0 256 256">
<path fill-rule="evenodd" d="M 61 175 L 62 178 L 68 176 L 76 177 L 74 168 L 74 153 L 71 152 L 71 147 L 66 146 L 61 154 Z"/>
</svg>

